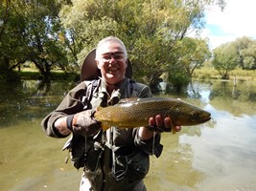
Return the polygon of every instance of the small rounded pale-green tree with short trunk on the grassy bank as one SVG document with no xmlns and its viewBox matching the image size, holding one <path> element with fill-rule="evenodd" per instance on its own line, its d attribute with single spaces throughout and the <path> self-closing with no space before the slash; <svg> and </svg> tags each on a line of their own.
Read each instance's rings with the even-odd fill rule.
<svg viewBox="0 0 256 191">
<path fill-rule="evenodd" d="M 221 79 L 228 79 L 228 73 L 238 66 L 240 60 L 235 44 L 222 44 L 213 51 L 213 54 L 213 67 L 221 74 Z"/>
</svg>

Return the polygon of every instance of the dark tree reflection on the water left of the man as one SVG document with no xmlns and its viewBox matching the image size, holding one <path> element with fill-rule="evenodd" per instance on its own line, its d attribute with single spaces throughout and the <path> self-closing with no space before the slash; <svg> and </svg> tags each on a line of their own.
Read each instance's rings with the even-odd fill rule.
<svg viewBox="0 0 256 191">
<path fill-rule="evenodd" d="M 59 101 L 74 87 L 74 83 L 28 80 L 0 87 L 0 127 L 15 125 L 17 121 L 33 121 L 44 117 L 58 106 Z"/>
</svg>

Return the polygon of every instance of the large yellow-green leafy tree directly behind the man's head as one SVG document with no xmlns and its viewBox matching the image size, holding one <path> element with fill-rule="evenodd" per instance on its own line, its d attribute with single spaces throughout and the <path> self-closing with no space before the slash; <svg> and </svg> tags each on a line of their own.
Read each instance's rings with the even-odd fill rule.
<svg viewBox="0 0 256 191">
<path fill-rule="evenodd" d="M 75 36 L 79 63 L 101 38 L 116 35 L 127 45 L 133 76 L 155 89 L 161 74 L 184 70 L 177 60 L 179 41 L 203 28 L 203 12 L 214 3 L 224 5 L 214 0 L 77 0 L 59 15 Z"/>
</svg>

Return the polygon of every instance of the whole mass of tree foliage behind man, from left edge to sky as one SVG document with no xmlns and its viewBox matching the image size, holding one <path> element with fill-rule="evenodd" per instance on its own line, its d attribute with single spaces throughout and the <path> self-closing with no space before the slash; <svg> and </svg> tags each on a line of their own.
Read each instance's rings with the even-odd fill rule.
<svg viewBox="0 0 256 191">
<path fill-rule="evenodd" d="M 222 9 L 225 3 L 5 0 L 0 4 L 0 67 L 12 70 L 30 60 L 45 77 L 54 67 L 78 71 L 100 39 L 115 35 L 127 45 L 136 79 L 155 88 L 162 74 L 173 84 L 172 76 L 182 75 L 182 84 L 208 56 L 205 40 L 185 37 L 203 28 L 203 12 L 214 4 Z"/>
</svg>

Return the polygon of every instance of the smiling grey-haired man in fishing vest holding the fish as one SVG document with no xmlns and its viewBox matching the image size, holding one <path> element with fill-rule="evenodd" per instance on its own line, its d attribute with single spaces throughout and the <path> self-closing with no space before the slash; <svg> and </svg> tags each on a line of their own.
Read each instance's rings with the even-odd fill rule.
<svg viewBox="0 0 256 191">
<path fill-rule="evenodd" d="M 104 132 L 93 117 L 98 106 L 113 105 L 120 98 L 151 97 L 151 90 L 126 77 L 128 53 L 120 39 L 101 40 L 95 60 L 102 76 L 71 90 L 42 120 L 42 127 L 54 138 L 72 134 L 67 147 L 74 165 L 83 167 L 81 190 L 146 190 L 143 179 L 149 171 L 149 155 L 159 157 L 162 151 L 160 134 L 153 130 L 171 131 L 171 118 L 158 115 L 149 119 L 149 127 L 111 127 Z M 175 126 L 173 131 L 179 130 Z"/>
</svg>

